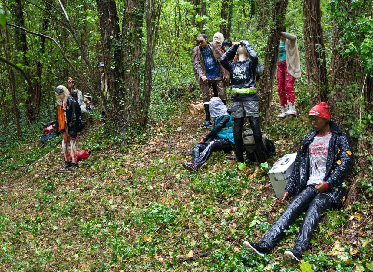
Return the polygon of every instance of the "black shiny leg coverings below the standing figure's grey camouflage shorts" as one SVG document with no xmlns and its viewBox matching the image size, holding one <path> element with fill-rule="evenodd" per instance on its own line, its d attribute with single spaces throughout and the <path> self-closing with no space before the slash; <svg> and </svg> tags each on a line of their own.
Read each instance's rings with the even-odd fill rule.
<svg viewBox="0 0 373 272">
<path fill-rule="evenodd" d="M 260 162 L 266 161 L 266 153 L 264 151 L 264 144 L 261 138 L 261 131 L 259 125 L 259 117 L 248 116 L 250 127 L 253 130 L 256 149 Z M 240 163 L 244 162 L 244 139 L 242 138 L 242 128 L 244 126 L 244 118 L 233 118 L 233 138 L 236 145 L 236 157 Z"/>
</svg>

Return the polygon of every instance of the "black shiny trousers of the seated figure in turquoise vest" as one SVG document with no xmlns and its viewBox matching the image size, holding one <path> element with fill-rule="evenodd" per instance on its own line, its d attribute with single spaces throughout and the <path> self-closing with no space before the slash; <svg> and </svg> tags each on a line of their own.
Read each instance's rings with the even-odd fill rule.
<svg viewBox="0 0 373 272">
<path fill-rule="evenodd" d="M 229 152 L 232 150 L 232 144 L 228 140 L 213 140 L 203 144 L 196 144 L 192 150 L 192 163 L 200 167 L 204 164 L 211 154 L 215 151 Z"/>
</svg>

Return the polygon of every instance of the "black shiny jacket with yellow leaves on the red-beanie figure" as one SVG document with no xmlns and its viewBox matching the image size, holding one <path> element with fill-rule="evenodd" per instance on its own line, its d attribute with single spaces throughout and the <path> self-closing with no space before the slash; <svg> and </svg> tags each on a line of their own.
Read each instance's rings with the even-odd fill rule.
<svg viewBox="0 0 373 272">
<path fill-rule="evenodd" d="M 348 136 L 332 121 L 329 122 L 332 137 L 329 141 L 329 150 L 326 159 L 326 174 L 324 181 L 329 185 L 327 193 L 333 202 L 341 204 L 345 194 L 342 182 L 352 169 L 352 151 Z M 308 146 L 316 136 L 316 130 L 312 129 L 301 142 L 295 159 L 294 168 L 291 172 L 285 191 L 291 195 L 298 195 L 306 186 L 309 177 L 310 159 L 308 157 Z"/>
</svg>

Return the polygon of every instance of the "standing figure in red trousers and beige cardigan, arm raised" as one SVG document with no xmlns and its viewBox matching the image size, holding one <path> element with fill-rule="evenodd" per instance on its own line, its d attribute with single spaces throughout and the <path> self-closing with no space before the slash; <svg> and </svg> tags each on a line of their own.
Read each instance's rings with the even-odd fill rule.
<svg viewBox="0 0 373 272">
<path fill-rule="evenodd" d="M 285 117 L 286 114 L 297 114 L 294 81 L 301 77 L 298 43 L 297 36 L 286 33 L 285 28 L 282 28 L 281 32 L 276 76 L 277 91 L 281 103 L 281 113 L 277 117 Z"/>
</svg>

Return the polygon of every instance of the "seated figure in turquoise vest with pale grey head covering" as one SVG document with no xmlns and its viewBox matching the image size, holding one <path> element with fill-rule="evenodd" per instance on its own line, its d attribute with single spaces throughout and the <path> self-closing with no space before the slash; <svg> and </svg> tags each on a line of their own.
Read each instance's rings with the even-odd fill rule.
<svg viewBox="0 0 373 272">
<path fill-rule="evenodd" d="M 219 97 L 212 97 L 209 102 L 210 114 L 215 117 L 214 125 L 209 134 L 193 147 L 192 162 L 184 163 L 184 168 L 192 172 L 204 164 L 215 151 L 229 153 L 233 150 L 233 121 L 231 110 L 228 109 Z"/>
</svg>

